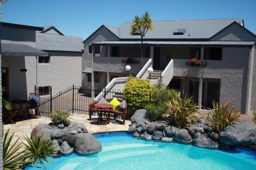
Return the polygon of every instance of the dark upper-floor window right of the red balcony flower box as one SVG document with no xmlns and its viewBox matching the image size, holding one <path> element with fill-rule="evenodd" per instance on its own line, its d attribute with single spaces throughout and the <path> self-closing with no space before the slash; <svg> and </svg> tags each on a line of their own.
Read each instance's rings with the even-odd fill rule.
<svg viewBox="0 0 256 170">
<path fill-rule="evenodd" d="M 221 47 L 207 47 L 204 48 L 205 60 L 222 60 L 222 48 Z"/>
</svg>

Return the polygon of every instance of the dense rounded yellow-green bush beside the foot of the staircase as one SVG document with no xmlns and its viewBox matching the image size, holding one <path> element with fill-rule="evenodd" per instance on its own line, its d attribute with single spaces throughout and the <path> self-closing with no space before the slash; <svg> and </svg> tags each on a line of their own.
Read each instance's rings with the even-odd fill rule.
<svg viewBox="0 0 256 170">
<path fill-rule="evenodd" d="M 141 109 L 148 103 L 151 91 L 150 81 L 129 77 L 124 86 L 124 99 L 128 106 Z"/>
</svg>

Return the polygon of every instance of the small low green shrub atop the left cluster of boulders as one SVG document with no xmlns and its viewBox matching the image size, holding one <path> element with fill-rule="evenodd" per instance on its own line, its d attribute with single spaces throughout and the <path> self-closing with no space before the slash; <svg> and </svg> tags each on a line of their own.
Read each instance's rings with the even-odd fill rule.
<svg viewBox="0 0 256 170">
<path fill-rule="evenodd" d="M 50 119 L 52 120 L 52 123 L 55 126 L 58 126 L 59 124 L 68 126 L 70 124 L 70 120 L 69 120 L 70 115 L 71 114 L 69 112 L 55 109 L 54 112 L 50 114 Z"/>
</svg>

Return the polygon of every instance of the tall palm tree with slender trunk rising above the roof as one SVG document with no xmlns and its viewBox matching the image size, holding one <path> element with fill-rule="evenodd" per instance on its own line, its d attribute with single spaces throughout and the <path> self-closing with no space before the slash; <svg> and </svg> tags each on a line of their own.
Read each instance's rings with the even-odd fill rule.
<svg viewBox="0 0 256 170">
<path fill-rule="evenodd" d="M 143 37 L 146 35 L 148 30 L 153 30 L 153 20 L 151 19 L 150 14 L 145 12 L 141 17 L 135 16 L 131 27 L 131 35 L 140 35 L 141 37 L 141 61 L 140 69 L 142 68 L 142 57 L 143 57 Z"/>
</svg>

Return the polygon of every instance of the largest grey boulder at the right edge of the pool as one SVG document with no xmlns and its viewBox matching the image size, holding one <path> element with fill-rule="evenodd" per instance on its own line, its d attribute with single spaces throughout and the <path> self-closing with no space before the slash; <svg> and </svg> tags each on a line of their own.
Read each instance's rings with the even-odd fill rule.
<svg viewBox="0 0 256 170">
<path fill-rule="evenodd" d="M 219 140 L 225 145 L 256 144 L 256 128 L 246 122 L 236 122 L 219 134 Z"/>
</svg>

